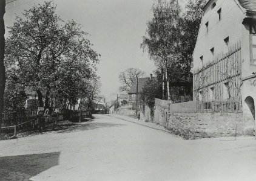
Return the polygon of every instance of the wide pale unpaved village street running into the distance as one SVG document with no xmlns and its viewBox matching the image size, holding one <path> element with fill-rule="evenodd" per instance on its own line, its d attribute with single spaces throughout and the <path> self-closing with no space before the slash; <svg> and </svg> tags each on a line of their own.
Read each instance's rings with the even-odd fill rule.
<svg viewBox="0 0 256 181">
<path fill-rule="evenodd" d="M 255 180 L 252 137 L 184 140 L 109 115 L 0 141 L 0 180 Z"/>
</svg>

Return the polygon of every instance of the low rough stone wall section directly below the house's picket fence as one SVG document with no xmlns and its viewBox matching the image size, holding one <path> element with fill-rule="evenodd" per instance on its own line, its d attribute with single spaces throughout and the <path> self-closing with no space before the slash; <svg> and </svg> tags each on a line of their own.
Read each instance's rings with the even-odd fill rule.
<svg viewBox="0 0 256 181">
<path fill-rule="evenodd" d="M 170 112 L 167 125 L 167 129 L 184 138 L 243 135 L 242 113 Z"/>
</svg>

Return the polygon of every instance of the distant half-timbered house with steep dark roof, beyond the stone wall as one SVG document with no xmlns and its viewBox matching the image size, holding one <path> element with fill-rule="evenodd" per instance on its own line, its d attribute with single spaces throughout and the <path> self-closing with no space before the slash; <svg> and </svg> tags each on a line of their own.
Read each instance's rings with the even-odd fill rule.
<svg viewBox="0 0 256 181">
<path fill-rule="evenodd" d="M 141 98 L 141 92 L 143 90 L 144 85 L 147 83 L 148 80 L 151 80 L 152 74 L 150 74 L 150 77 L 144 77 L 144 78 L 138 78 L 138 102 Z M 136 108 L 136 92 L 137 92 L 137 81 L 135 81 L 132 84 L 132 87 L 130 87 L 130 90 L 128 91 L 128 104 L 133 107 L 133 109 Z M 138 107 L 140 108 L 141 105 L 138 104 Z"/>
</svg>

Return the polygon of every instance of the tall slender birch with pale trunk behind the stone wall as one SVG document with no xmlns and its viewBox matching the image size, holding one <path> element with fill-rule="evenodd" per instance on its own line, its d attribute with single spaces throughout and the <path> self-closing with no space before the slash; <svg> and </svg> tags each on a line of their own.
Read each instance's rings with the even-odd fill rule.
<svg viewBox="0 0 256 181">
<path fill-rule="evenodd" d="M 141 48 L 149 52 L 149 57 L 155 64 L 162 68 L 163 74 L 163 98 L 164 83 L 167 83 L 167 95 L 169 92 L 169 77 L 167 75 L 171 62 L 175 62 L 175 47 L 177 46 L 178 19 L 180 6 L 177 0 L 159 0 L 152 7 L 153 18 L 147 23 L 147 36 L 143 36 Z"/>
</svg>

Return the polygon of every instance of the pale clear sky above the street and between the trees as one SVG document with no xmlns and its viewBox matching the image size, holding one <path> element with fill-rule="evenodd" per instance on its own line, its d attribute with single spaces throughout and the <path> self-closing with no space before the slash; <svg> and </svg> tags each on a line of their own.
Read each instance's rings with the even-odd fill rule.
<svg viewBox="0 0 256 181">
<path fill-rule="evenodd" d="M 5 27 L 10 27 L 15 16 L 45 0 L 7 0 Z M 127 68 L 139 68 L 146 77 L 153 73 L 155 65 L 147 52 L 140 48 L 146 35 L 147 22 L 154 0 L 53 0 L 56 13 L 63 19 L 75 20 L 93 43 L 93 49 L 101 54 L 97 75 L 101 80 L 101 94 L 108 97 L 121 86 L 118 74 Z M 8 30 L 7 30 L 8 31 Z M 5 34 L 8 36 L 8 33 Z"/>
</svg>

